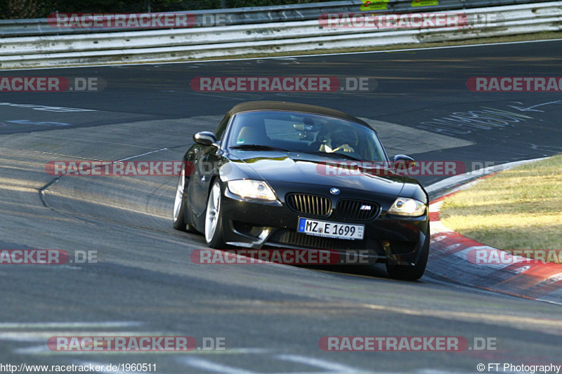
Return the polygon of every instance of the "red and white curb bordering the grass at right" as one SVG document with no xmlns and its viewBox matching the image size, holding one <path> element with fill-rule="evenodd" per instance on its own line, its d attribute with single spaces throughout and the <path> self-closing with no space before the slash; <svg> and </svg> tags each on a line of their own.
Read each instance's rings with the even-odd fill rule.
<svg viewBox="0 0 562 374">
<path fill-rule="evenodd" d="M 439 219 L 440 208 L 448 196 L 457 192 L 441 196 L 430 203 L 432 234 L 429 271 L 467 286 L 562 304 L 562 265 L 529 262 L 527 258 L 485 246 L 443 225 Z M 489 258 L 501 261 L 486 264 L 470 261 L 469 258 L 475 250 L 486 251 Z"/>
</svg>

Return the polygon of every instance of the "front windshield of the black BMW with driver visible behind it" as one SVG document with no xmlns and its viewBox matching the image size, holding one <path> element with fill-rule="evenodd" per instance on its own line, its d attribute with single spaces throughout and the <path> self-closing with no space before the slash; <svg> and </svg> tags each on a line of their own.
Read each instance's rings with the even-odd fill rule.
<svg viewBox="0 0 562 374">
<path fill-rule="evenodd" d="M 232 126 L 230 148 L 282 149 L 386 161 L 377 134 L 344 119 L 299 112 L 246 112 L 237 114 Z"/>
</svg>

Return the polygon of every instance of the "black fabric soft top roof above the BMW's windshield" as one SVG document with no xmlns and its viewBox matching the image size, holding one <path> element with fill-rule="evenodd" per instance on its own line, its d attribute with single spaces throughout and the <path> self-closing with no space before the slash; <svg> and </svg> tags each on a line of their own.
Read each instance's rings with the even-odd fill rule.
<svg viewBox="0 0 562 374">
<path fill-rule="evenodd" d="M 331 116 L 339 119 L 346 119 L 347 121 L 353 121 L 356 123 L 361 123 L 370 128 L 370 126 L 365 122 L 361 121 L 354 116 L 350 116 L 339 110 L 329 109 L 325 107 L 317 107 L 316 105 L 299 104 L 296 102 L 285 102 L 285 101 L 249 101 L 242 102 L 241 104 L 235 105 L 233 109 L 230 109 L 231 114 L 241 113 L 241 112 L 251 112 L 254 110 L 282 110 L 287 112 L 301 112 L 310 114 L 319 114 L 321 116 Z"/>
</svg>

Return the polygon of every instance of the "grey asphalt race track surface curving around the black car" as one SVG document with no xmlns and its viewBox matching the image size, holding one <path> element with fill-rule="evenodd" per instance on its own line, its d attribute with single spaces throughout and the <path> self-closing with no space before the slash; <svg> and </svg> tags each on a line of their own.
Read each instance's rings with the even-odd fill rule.
<svg viewBox="0 0 562 374">
<path fill-rule="evenodd" d="M 247 100 L 341 109 L 389 153 L 507 163 L 562 152 L 559 93 L 474 93 L 471 76 L 560 76 L 562 41 L 162 65 L 2 72 L 94 76 L 100 92 L 0 93 L 0 248 L 98 251 L 90 265 L 0 265 L 1 363 L 152 363 L 157 373 L 477 373 L 562 364 L 561 309 L 383 267 L 195 265 L 204 238 L 171 227 L 176 177 L 63 177 L 57 160 L 179 160 Z M 370 76 L 372 92 L 198 93 L 196 76 Z M 72 109 L 60 109 L 72 108 Z M 57 109 L 58 108 L 58 109 Z M 484 111 L 504 116 L 490 121 Z M 455 117 L 452 117 L 455 116 Z M 473 121 L 463 121 L 472 119 Z M 430 185 L 443 177 L 420 178 Z M 72 335 L 226 338 L 190 353 L 53 352 Z M 464 352 L 323 352 L 324 336 L 491 338 Z M 501 370 L 500 370 L 501 371 Z M 485 371 L 487 373 L 488 371 Z M 493 371 L 495 372 L 495 371 Z"/>
</svg>

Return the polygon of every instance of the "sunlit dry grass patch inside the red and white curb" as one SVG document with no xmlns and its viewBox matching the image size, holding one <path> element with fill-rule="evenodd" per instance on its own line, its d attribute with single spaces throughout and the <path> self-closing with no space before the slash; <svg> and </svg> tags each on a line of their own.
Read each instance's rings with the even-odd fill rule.
<svg viewBox="0 0 562 374">
<path fill-rule="evenodd" d="M 445 226 L 499 249 L 562 249 L 562 154 L 481 180 L 445 200 Z"/>
</svg>

